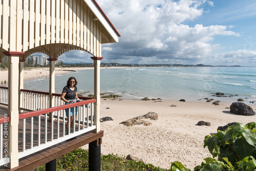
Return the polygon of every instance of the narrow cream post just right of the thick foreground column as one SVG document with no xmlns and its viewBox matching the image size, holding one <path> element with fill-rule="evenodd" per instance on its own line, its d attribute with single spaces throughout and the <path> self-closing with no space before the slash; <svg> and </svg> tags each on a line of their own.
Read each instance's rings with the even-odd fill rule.
<svg viewBox="0 0 256 171">
<path fill-rule="evenodd" d="M 19 93 L 19 98 L 18 98 L 18 111 L 19 112 L 23 112 L 20 108 L 23 107 L 23 92 L 20 91 L 21 89 L 24 89 L 24 62 L 26 60 L 25 59 L 19 59 L 19 89 L 18 89 L 18 93 Z"/>
</svg>

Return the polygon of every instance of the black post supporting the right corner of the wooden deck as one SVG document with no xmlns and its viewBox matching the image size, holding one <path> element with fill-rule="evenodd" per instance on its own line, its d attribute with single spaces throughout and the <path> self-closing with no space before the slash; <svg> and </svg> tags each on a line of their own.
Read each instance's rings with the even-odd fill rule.
<svg viewBox="0 0 256 171">
<path fill-rule="evenodd" d="M 89 143 L 89 171 L 100 171 L 100 144 L 95 142 Z"/>
</svg>

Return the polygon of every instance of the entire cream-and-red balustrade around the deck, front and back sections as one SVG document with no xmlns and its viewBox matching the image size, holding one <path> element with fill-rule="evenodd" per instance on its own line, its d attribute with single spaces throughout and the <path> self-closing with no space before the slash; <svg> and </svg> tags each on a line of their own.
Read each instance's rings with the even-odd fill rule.
<svg viewBox="0 0 256 171">
<path fill-rule="evenodd" d="M 55 98 L 55 107 L 49 108 L 49 93 L 31 90 L 20 90 L 23 93 L 23 108 L 22 110 L 31 111 L 28 113 L 19 114 L 18 128 L 18 158 L 23 158 L 31 155 L 42 149 L 62 141 L 74 138 L 75 136 L 87 133 L 96 129 L 93 125 L 93 103 L 96 99 L 89 97 L 78 96 L 84 101 L 66 104 L 60 99 L 61 94 L 53 93 Z M 8 105 L 8 88 L 0 87 L 0 104 Z M 73 120 L 75 125 L 71 127 L 71 117 L 66 117 L 65 109 L 69 112 L 73 108 L 77 110 L 77 115 Z M 9 163 L 9 158 L 6 157 L 5 133 L 6 125 L 10 117 L 5 114 L 5 117 L 0 118 L 0 166 Z M 67 127 L 68 125 L 68 134 Z M 9 140 L 8 140 L 9 141 Z"/>
</svg>

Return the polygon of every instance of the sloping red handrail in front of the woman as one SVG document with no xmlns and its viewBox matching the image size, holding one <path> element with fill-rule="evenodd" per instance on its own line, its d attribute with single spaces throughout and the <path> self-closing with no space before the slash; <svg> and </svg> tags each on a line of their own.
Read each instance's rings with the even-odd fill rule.
<svg viewBox="0 0 256 171">
<path fill-rule="evenodd" d="M 51 113 L 51 112 L 55 112 L 55 111 L 68 109 L 68 108 L 74 108 L 75 106 L 94 103 L 94 102 L 96 102 L 96 99 L 91 99 L 91 100 L 86 100 L 86 101 L 61 105 L 61 106 L 57 106 L 57 107 L 53 107 L 53 108 L 49 108 L 49 109 L 43 109 L 43 110 L 39 110 L 39 111 L 23 113 L 23 114 L 19 114 L 19 119 L 29 118 L 29 117 L 32 117 L 32 116 L 42 115 L 42 114 L 46 114 L 46 113 Z"/>
</svg>

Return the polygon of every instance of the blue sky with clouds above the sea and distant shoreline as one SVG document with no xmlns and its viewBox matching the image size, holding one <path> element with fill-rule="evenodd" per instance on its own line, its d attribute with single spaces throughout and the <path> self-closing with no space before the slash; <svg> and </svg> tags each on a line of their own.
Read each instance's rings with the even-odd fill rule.
<svg viewBox="0 0 256 171">
<path fill-rule="evenodd" d="M 102 62 L 256 66 L 256 1 L 97 0 L 120 33 Z M 62 61 L 92 62 L 71 51 Z"/>
</svg>

